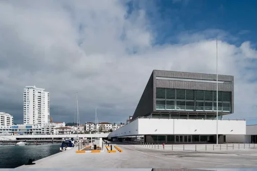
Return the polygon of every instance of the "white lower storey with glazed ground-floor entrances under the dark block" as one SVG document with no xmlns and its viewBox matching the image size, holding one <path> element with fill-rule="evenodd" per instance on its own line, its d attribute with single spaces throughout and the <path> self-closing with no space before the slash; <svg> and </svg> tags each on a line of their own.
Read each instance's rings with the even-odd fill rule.
<svg viewBox="0 0 257 171">
<path fill-rule="evenodd" d="M 126 126 L 111 132 L 108 138 L 143 135 L 144 141 L 150 143 L 155 138 L 158 138 L 159 142 L 160 137 L 163 142 L 193 143 L 198 142 L 198 140 L 201 142 L 201 139 L 210 139 L 206 140 L 207 142 L 214 141 L 216 133 L 219 136 L 245 135 L 246 121 L 218 120 L 217 122 L 216 120 L 199 119 L 138 118 Z M 219 141 L 224 142 L 225 140 L 224 136 L 222 136 L 221 140 L 219 138 Z"/>
</svg>

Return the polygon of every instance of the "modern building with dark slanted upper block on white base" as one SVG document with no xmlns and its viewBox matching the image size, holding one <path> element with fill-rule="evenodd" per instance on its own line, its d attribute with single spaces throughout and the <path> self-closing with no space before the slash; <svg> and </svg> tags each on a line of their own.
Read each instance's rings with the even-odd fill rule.
<svg viewBox="0 0 257 171">
<path fill-rule="evenodd" d="M 216 110 L 216 75 L 154 70 L 132 121 L 109 138 L 214 143 L 218 133 L 218 142 L 223 143 L 226 135 L 246 134 L 245 120 L 223 119 L 234 112 L 233 76 L 218 75 L 218 122 Z"/>
</svg>

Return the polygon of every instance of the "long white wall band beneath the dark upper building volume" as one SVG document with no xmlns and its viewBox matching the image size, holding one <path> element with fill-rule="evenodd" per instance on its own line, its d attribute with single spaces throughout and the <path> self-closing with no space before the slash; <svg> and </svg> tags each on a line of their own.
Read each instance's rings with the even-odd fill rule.
<svg viewBox="0 0 257 171">
<path fill-rule="evenodd" d="M 139 118 L 128 125 L 111 132 L 108 136 L 154 134 L 216 134 L 216 120 Z M 218 134 L 244 135 L 246 134 L 246 122 L 218 120 Z"/>
</svg>

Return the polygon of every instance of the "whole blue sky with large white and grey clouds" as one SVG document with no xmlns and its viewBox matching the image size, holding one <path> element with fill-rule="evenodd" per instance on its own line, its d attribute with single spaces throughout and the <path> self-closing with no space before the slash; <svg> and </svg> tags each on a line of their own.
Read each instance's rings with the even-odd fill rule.
<svg viewBox="0 0 257 171">
<path fill-rule="evenodd" d="M 257 1 L 1 0 L 0 112 L 23 123 L 23 88 L 53 122 L 125 123 L 153 70 L 234 76 L 234 114 L 257 124 Z"/>
</svg>

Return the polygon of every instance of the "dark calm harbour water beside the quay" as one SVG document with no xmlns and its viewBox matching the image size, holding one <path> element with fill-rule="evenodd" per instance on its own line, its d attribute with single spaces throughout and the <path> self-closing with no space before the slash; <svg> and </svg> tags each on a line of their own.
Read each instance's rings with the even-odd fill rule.
<svg viewBox="0 0 257 171">
<path fill-rule="evenodd" d="M 44 145 L 0 145 L 0 168 L 17 168 L 28 163 L 29 159 L 39 160 L 59 153 L 61 144 Z"/>
</svg>

